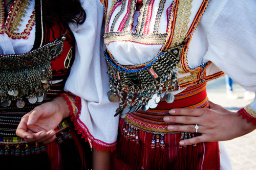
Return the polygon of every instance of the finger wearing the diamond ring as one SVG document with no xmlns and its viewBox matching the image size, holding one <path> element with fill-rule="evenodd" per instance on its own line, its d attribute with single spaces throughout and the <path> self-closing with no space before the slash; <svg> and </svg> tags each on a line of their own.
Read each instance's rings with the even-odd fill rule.
<svg viewBox="0 0 256 170">
<path fill-rule="evenodd" d="M 170 132 L 190 132 L 190 133 L 202 133 L 204 127 L 198 125 L 198 129 L 196 131 L 196 125 L 169 125 L 167 129 Z"/>
</svg>

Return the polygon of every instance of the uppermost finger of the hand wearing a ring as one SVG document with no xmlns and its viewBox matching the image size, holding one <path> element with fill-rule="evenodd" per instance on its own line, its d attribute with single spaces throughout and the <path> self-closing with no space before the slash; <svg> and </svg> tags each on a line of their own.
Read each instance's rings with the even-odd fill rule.
<svg viewBox="0 0 256 170">
<path fill-rule="evenodd" d="M 172 115 L 186 115 L 186 116 L 201 116 L 203 115 L 203 108 L 176 108 L 169 110 L 169 114 Z"/>
</svg>

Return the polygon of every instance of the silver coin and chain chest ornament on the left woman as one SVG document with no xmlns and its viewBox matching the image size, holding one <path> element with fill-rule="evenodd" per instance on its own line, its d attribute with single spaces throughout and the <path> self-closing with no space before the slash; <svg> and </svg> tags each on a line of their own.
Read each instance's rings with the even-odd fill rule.
<svg viewBox="0 0 256 170">
<path fill-rule="evenodd" d="M 32 104 L 44 100 L 43 93 L 50 89 L 52 81 L 51 60 L 61 54 L 65 35 L 28 53 L 0 55 L 0 103 L 3 107 L 17 101 L 16 106 L 23 108 L 26 98 Z"/>
</svg>

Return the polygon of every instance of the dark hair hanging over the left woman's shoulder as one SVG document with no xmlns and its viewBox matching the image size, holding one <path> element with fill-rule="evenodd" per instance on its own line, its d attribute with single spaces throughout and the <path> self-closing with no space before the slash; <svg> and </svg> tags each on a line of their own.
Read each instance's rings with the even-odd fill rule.
<svg viewBox="0 0 256 170">
<path fill-rule="evenodd" d="M 56 20 L 57 22 L 75 23 L 77 25 L 86 20 L 86 11 L 79 0 L 45 0 L 46 21 Z"/>
</svg>

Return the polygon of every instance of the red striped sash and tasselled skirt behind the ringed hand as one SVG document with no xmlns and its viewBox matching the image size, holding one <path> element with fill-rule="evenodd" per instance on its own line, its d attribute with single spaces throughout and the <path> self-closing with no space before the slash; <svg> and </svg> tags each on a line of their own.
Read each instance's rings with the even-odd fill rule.
<svg viewBox="0 0 256 170">
<path fill-rule="evenodd" d="M 206 83 L 175 95 L 172 104 L 160 102 L 155 109 L 128 113 L 120 119 L 114 168 L 121 169 L 220 169 L 218 142 L 181 147 L 179 141 L 198 133 L 170 133 L 163 122 L 172 108 L 208 108 Z"/>
</svg>

